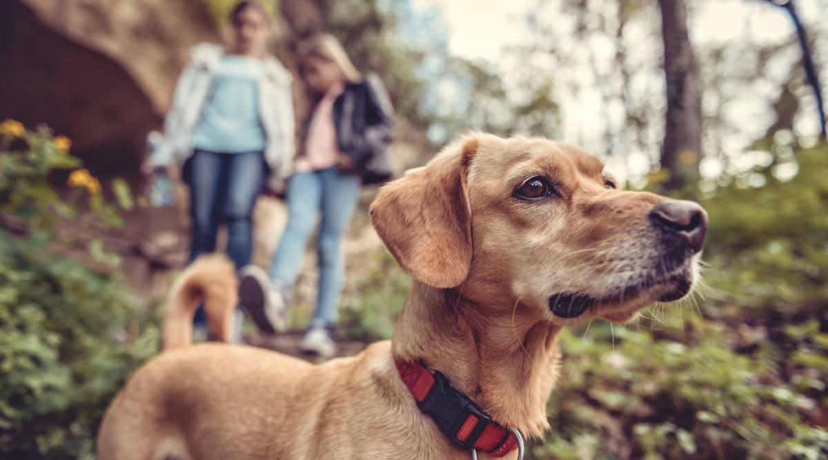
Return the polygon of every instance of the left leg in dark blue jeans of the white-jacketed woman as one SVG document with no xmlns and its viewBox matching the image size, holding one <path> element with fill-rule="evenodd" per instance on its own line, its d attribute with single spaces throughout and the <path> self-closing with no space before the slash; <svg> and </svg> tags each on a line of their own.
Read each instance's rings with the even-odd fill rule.
<svg viewBox="0 0 828 460">
<path fill-rule="evenodd" d="M 219 185 L 222 182 L 221 154 L 211 151 L 196 150 L 190 157 L 187 185 L 190 186 L 190 217 L 192 218 L 192 241 L 190 242 L 190 262 L 202 254 L 215 251 L 216 233 L 219 229 Z M 196 335 L 206 338 L 204 309 L 195 310 L 193 318 Z"/>
</svg>

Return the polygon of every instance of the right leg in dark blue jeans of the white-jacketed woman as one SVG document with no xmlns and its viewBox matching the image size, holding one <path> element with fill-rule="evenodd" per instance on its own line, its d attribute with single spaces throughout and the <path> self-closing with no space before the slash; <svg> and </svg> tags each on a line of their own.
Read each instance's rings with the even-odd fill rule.
<svg viewBox="0 0 828 460">
<path fill-rule="evenodd" d="M 267 165 L 262 152 L 227 156 L 227 185 L 221 217 L 227 223 L 227 255 L 236 270 L 250 263 L 253 251 L 253 206 L 264 187 Z"/>
</svg>

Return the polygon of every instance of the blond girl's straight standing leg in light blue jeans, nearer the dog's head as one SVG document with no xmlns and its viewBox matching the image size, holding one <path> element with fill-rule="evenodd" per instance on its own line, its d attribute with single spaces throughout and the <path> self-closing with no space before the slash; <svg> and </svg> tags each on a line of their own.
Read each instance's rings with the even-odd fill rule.
<svg viewBox="0 0 828 460">
<path fill-rule="evenodd" d="M 344 263 L 342 237 L 359 200 L 359 176 L 339 173 L 335 168 L 320 171 L 323 182 L 322 223 L 316 247 L 319 252 L 319 296 L 313 322 L 333 326 L 336 303 L 342 290 Z"/>
</svg>

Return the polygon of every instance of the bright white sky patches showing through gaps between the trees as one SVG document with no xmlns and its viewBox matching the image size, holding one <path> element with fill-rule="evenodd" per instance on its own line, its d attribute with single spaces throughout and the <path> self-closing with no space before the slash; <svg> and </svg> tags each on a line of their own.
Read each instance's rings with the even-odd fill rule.
<svg viewBox="0 0 828 460">
<path fill-rule="evenodd" d="M 691 41 L 696 45 L 709 45 L 727 41 L 738 41 L 741 37 L 751 36 L 754 42 L 778 42 L 780 38 L 788 36 L 792 31 L 790 17 L 779 7 L 773 7 L 763 0 L 708 0 L 695 2 L 690 0 L 697 9 L 691 16 L 689 29 Z M 502 56 L 503 46 L 521 43 L 527 34 L 525 25 L 526 14 L 536 7 L 538 0 L 412 0 L 413 7 L 421 12 L 430 8 L 440 10 L 445 25 L 448 26 L 449 47 L 452 54 L 472 60 L 488 60 L 498 65 Z M 653 2 L 654 3 L 654 2 Z M 797 0 L 797 11 L 806 26 L 821 18 L 820 11 L 828 7 L 828 0 Z M 607 43 L 605 46 L 613 47 Z M 819 48 L 819 46 L 817 46 Z M 613 50 L 607 50 L 610 56 Z M 818 51 L 818 50 L 816 50 Z M 595 50 L 601 55 L 601 50 Z M 817 53 L 817 59 L 820 56 Z M 611 57 L 608 58 L 608 62 Z M 787 67 L 781 69 L 787 72 Z M 769 68 L 775 74 L 773 66 Z M 575 69 L 571 69 L 575 70 Z M 584 69 L 581 69 L 583 71 Z M 826 72 L 823 72 L 826 74 Z M 783 78 L 783 77 L 781 77 Z M 823 76 L 823 81 L 828 75 Z M 568 141 L 582 143 L 588 150 L 599 150 L 601 145 L 601 127 L 595 120 L 601 117 L 602 101 L 597 92 L 585 91 L 578 96 L 562 94 L 561 110 L 562 137 Z M 742 134 L 732 135 L 724 149 L 727 151 L 742 151 L 744 146 L 756 135 L 763 132 L 768 125 L 766 120 L 770 116 L 767 99 L 754 98 L 733 106 L 744 122 Z M 567 108 L 577 110 L 567 111 Z M 568 113 L 567 113 L 568 112 Z M 818 123 L 812 117 L 802 117 L 806 126 L 802 132 L 816 130 Z M 619 119 L 619 122 L 623 122 Z M 652 152 L 630 153 L 623 160 L 627 163 L 628 172 L 635 176 L 647 171 L 650 164 L 647 155 Z M 613 159 L 618 161 L 618 159 Z"/>
</svg>

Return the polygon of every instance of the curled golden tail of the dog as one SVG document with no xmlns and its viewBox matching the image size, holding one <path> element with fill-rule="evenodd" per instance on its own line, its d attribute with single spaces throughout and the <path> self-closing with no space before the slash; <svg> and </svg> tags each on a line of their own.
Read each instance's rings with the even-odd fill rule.
<svg viewBox="0 0 828 460">
<path fill-rule="evenodd" d="M 233 262 L 222 254 L 200 256 L 172 286 L 164 318 L 164 350 L 192 343 L 193 316 L 204 304 L 207 322 L 216 337 L 228 342 L 233 309 L 238 304 L 238 280 Z"/>
</svg>

